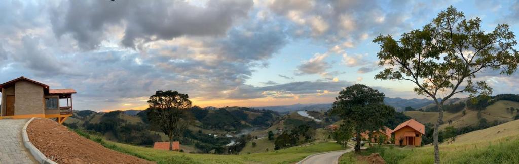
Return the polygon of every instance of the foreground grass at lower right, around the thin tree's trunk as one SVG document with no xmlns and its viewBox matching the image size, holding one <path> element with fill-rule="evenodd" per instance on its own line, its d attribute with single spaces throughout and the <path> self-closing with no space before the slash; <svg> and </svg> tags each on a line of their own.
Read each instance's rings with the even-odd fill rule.
<svg viewBox="0 0 519 164">
<path fill-rule="evenodd" d="M 386 163 L 433 163 L 432 146 L 401 148 L 379 146 L 364 155 L 378 153 Z M 456 142 L 440 145 L 442 163 L 519 163 L 519 120 L 461 135 Z M 358 163 L 354 155 L 341 157 L 343 163 Z"/>
</svg>

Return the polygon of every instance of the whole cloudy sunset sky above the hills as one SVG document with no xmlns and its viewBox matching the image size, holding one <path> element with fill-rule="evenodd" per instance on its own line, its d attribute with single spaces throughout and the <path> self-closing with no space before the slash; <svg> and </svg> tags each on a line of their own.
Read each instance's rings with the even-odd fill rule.
<svg viewBox="0 0 519 164">
<path fill-rule="evenodd" d="M 450 5 L 486 32 L 500 23 L 519 32 L 517 1 L 1 1 L 0 82 L 74 88 L 74 109 L 95 111 L 145 109 L 159 90 L 200 107 L 330 103 L 357 83 L 421 99 L 411 83 L 373 79 L 372 41 L 419 29 Z M 517 72 L 477 80 L 494 94 L 519 92 Z"/>
</svg>

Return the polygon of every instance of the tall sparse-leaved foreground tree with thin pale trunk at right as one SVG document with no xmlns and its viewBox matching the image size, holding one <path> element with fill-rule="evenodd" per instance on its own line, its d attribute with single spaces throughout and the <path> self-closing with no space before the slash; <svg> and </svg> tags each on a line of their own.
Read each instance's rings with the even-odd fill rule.
<svg viewBox="0 0 519 164">
<path fill-rule="evenodd" d="M 473 82 L 476 73 L 490 68 L 510 75 L 517 69 L 519 53 L 508 24 L 493 32 L 480 29 L 481 19 L 467 20 L 463 12 L 450 6 L 422 29 L 404 33 L 400 41 L 380 35 L 379 65 L 386 69 L 375 76 L 381 80 L 406 80 L 414 92 L 434 100 L 438 120 L 434 125 L 434 163 L 440 163 L 438 126 L 443 119 L 443 104 L 458 93 L 490 95 L 485 81 Z M 465 87 L 463 87 L 465 86 Z M 440 96 L 445 96 L 439 100 Z"/>
</svg>

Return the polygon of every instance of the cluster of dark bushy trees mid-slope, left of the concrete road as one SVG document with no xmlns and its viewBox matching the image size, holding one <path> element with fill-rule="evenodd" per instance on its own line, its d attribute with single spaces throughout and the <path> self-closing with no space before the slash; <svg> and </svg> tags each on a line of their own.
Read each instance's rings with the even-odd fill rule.
<svg viewBox="0 0 519 164">
<path fill-rule="evenodd" d="M 285 130 L 281 133 L 281 135 L 276 137 L 274 141 L 274 150 L 280 150 L 283 148 L 311 142 L 314 140 L 313 136 L 315 136 L 315 133 L 315 129 L 308 125 L 299 125 L 293 129 Z"/>
</svg>

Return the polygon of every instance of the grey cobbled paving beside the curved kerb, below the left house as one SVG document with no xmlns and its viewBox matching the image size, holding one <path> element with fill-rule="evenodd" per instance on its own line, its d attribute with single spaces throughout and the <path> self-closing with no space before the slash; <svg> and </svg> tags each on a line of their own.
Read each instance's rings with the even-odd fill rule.
<svg viewBox="0 0 519 164">
<path fill-rule="evenodd" d="M 36 163 L 22 142 L 22 128 L 27 121 L 0 120 L 0 163 Z"/>
</svg>

